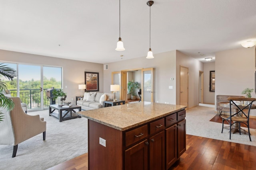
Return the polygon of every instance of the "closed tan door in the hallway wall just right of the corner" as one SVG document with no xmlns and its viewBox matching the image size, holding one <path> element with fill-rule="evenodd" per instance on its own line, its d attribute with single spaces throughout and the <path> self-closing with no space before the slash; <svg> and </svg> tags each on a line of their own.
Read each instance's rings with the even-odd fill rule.
<svg viewBox="0 0 256 170">
<path fill-rule="evenodd" d="M 180 66 L 180 105 L 188 108 L 188 67 Z"/>
</svg>

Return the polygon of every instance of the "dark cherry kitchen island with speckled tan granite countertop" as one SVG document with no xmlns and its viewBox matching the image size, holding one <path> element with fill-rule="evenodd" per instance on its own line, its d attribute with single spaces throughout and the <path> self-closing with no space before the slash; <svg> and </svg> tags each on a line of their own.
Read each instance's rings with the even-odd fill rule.
<svg viewBox="0 0 256 170">
<path fill-rule="evenodd" d="M 186 150 L 185 108 L 138 102 L 78 112 L 88 119 L 88 168 L 170 168 Z"/>
</svg>

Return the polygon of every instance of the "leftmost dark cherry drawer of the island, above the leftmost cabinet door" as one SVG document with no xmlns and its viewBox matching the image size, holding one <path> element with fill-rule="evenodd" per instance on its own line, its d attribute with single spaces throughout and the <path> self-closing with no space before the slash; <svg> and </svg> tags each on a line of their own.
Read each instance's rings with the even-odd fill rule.
<svg viewBox="0 0 256 170">
<path fill-rule="evenodd" d="M 125 146 L 129 146 L 148 136 L 148 125 L 138 127 L 125 133 Z"/>
</svg>

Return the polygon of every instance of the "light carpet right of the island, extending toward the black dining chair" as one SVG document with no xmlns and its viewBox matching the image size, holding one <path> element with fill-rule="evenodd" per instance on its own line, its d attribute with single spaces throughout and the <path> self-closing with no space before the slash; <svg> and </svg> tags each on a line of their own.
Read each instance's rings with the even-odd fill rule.
<svg viewBox="0 0 256 170">
<path fill-rule="evenodd" d="M 186 111 L 186 133 L 188 135 L 256 146 L 256 129 L 250 128 L 251 142 L 248 135 L 239 135 L 239 133 L 231 134 L 230 140 L 229 130 L 224 129 L 223 133 L 221 133 L 222 123 L 210 121 L 215 115 L 213 107 L 196 106 L 188 109 Z M 243 129 L 246 130 L 244 127 Z"/>
</svg>

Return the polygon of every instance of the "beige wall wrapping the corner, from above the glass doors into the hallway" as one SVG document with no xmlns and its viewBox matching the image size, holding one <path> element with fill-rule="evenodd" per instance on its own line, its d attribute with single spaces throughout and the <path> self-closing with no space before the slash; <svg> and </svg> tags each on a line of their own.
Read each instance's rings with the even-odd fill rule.
<svg viewBox="0 0 256 170">
<path fill-rule="evenodd" d="M 189 99 L 188 107 L 198 105 L 199 70 L 203 70 L 203 63 L 188 57 L 179 51 L 154 54 L 154 59 L 140 57 L 131 60 L 108 63 L 108 70 L 104 70 L 104 92 L 109 91 L 111 72 L 134 69 L 154 68 L 154 102 L 179 104 L 180 65 L 189 67 Z M 176 63 L 177 61 L 177 63 Z M 170 80 L 174 78 L 174 80 Z M 173 86 L 173 89 L 169 89 Z M 177 95 L 176 95 L 177 94 Z"/>
</svg>

